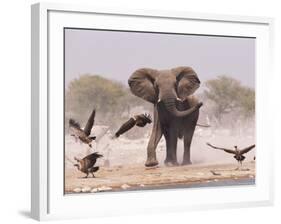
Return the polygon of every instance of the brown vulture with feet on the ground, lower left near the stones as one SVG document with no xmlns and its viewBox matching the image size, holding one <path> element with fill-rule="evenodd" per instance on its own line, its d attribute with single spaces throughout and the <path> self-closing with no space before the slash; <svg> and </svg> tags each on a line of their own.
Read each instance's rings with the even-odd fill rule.
<svg viewBox="0 0 281 224">
<path fill-rule="evenodd" d="M 78 162 L 74 164 L 74 166 L 77 167 L 78 170 L 85 173 L 86 176 L 84 178 L 87 178 L 89 173 L 92 174 L 93 177 L 95 177 L 94 173 L 99 170 L 98 166 L 94 166 L 97 159 L 103 157 L 102 155 L 98 154 L 97 152 L 94 152 L 90 155 L 87 155 L 83 159 L 78 159 L 74 157 L 74 159 Z"/>
</svg>

